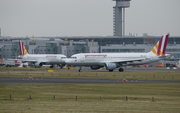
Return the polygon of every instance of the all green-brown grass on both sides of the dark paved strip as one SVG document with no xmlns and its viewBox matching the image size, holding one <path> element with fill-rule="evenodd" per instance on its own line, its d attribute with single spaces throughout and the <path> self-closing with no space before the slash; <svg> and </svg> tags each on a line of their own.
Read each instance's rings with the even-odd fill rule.
<svg viewBox="0 0 180 113">
<path fill-rule="evenodd" d="M 37 73 L 33 71 L 39 71 L 38 69 L 0 68 L 0 71 L 6 71 L 0 73 L 0 79 L 31 76 L 33 78 L 114 80 L 126 78 L 128 80 L 180 81 L 178 72 L 48 73 L 47 70 L 40 69 L 43 72 Z M 0 112 L 178 113 L 180 112 L 180 84 L 0 85 Z"/>
</svg>

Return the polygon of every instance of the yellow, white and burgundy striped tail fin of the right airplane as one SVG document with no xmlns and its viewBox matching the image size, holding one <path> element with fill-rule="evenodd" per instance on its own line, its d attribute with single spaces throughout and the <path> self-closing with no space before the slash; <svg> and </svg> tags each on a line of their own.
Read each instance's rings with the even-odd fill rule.
<svg viewBox="0 0 180 113">
<path fill-rule="evenodd" d="M 151 52 L 157 56 L 165 56 L 169 34 L 163 35 Z"/>
</svg>

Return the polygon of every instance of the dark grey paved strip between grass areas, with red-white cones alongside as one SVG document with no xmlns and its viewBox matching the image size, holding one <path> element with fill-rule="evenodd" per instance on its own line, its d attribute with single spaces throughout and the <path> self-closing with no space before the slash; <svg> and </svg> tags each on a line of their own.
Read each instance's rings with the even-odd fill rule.
<svg viewBox="0 0 180 113">
<path fill-rule="evenodd" d="M 0 85 L 55 85 L 55 84 L 180 84 L 178 81 L 146 81 L 139 80 L 137 83 L 130 80 L 128 83 L 121 83 L 121 80 L 99 80 L 99 79 L 33 79 L 27 81 L 22 78 L 0 78 Z"/>
</svg>

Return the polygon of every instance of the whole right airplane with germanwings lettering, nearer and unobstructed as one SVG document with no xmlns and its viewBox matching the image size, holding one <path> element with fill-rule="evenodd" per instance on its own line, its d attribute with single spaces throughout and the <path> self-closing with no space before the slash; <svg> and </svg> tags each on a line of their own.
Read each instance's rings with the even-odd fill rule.
<svg viewBox="0 0 180 113">
<path fill-rule="evenodd" d="M 168 37 L 169 34 L 163 35 L 148 53 L 80 53 L 66 59 L 66 64 L 79 66 L 79 72 L 82 66 L 89 66 L 92 70 L 105 67 L 109 72 L 119 68 L 119 72 L 123 72 L 122 66 L 148 64 L 169 58 L 170 55 L 165 54 Z"/>
</svg>

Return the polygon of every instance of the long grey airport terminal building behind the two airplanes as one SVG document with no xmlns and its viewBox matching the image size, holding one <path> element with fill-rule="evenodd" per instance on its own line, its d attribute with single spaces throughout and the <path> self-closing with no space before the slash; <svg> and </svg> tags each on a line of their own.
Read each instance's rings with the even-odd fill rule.
<svg viewBox="0 0 180 113">
<path fill-rule="evenodd" d="M 72 37 L 0 37 L 0 59 L 17 58 L 20 55 L 19 40 L 29 54 L 77 53 L 145 53 L 152 50 L 161 36 L 72 36 Z M 175 63 L 180 59 L 180 37 L 170 36 L 166 53 L 175 54 L 161 61 Z M 157 62 L 158 63 L 158 62 Z"/>
</svg>

